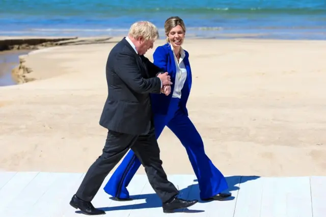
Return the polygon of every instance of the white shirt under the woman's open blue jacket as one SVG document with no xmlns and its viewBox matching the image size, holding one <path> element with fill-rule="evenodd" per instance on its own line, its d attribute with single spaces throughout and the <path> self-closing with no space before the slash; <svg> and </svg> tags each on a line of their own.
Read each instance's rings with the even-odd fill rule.
<svg viewBox="0 0 326 217">
<path fill-rule="evenodd" d="M 174 60 L 175 60 L 175 67 L 176 67 L 176 76 L 175 76 L 174 90 L 173 90 L 172 97 L 181 98 L 181 90 L 182 90 L 183 85 L 185 83 L 185 79 L 187 78 L 187 70 L 186 70 L 184 62 L 183 62 L 183 59 L 185 57 L 185 53 L 184 53 L 184 50 L 181 47 L 180 48 L 181 57 L 180 57 L 179 63 L 178 63 L 178 60 L 177 60 L 177 57 L 174 54 L 174 49 L 173 49 L 172 45 L 171 45 L 171 49 L 173 51 L 173 56 L 174 56 Z"/>
</svg>

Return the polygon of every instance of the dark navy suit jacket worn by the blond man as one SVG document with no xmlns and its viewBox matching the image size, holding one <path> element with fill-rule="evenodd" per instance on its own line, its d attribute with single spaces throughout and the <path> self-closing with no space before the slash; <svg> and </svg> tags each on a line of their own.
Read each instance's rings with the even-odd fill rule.
<svg viewBox="0 0 326 217">
<path fill-rule="evenodd" d="M 107 98 L 100 125 L 127 134 L 146 134 L 152 122 L 149 93 L 160 94 L 160 69 L 123 38 L 107 57 Z"/>
</svg>

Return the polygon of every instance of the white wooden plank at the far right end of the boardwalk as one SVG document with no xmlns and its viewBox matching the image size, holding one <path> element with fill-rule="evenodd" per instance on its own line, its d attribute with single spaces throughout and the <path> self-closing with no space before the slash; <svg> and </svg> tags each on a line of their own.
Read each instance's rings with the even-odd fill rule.
<svg viewBox="0 0 326 217">
<path fill-rule="evenodd" d="M 313 176 L 310 178 L 312 213 L 314 217 L 326 215 L 326 177 Z"/>
</svg>

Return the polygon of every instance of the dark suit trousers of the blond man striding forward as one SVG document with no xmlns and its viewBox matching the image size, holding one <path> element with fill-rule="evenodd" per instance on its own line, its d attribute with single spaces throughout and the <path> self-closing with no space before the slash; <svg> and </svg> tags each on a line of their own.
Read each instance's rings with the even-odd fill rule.
<svg viewBox="0 0 326 217">
<path fill-rule="evenodd" d="M 179 194 L 177 188 L 168 181 L 159 157 L 159 147 L 154 128 L 146 135 L 131 135 L 109 130 L 102 154 L 95 160 L 80 184 L 76 196 L 84 201 L 92 201 L 105 177 L 131 149 L 144 166 L 148 181 L 163 203 Z"/>
</svg>

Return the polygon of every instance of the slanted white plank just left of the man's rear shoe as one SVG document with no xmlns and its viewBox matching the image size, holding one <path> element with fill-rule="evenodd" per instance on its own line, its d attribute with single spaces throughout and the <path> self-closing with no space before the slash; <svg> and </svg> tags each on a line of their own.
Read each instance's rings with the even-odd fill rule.
<svg viewBox="0 0 326 217">
<path fill-rule="evenodd" d="M 83 173 L 57 173 L 58 176 L 49 186 L 48 190 L 39 198 L 28 213 L 28 216 L 57 217 L 69 208 L 71 197 L 85 174 Z M 71 212 L 74 212 L 72 209 Z"/>
</svg>

